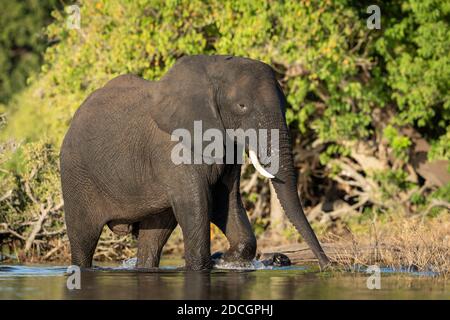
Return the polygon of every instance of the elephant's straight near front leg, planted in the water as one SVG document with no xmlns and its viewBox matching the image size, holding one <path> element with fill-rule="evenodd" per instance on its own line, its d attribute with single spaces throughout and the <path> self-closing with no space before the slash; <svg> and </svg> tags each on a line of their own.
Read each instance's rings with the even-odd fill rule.
<svg viewBox="0 0 450 320">
<path fill-rule="evenodd" d="M 210 192 L 196 179 L 180 183 L 174 190 L 172 208 L 183 231 L 186 269 L 211 269 Z"/>
</svg>

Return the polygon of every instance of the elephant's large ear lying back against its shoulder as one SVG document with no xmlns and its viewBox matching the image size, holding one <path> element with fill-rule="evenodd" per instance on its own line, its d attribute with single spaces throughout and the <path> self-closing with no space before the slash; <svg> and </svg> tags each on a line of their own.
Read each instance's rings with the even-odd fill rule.
<svg viewBox="0 0 450 320">
<path fill-rule="evenodd" d="M 194 139 L 194 122 L 201 121 L 203 133 L 213 128 L 224 133 L 209 63 L 207 56 L 183 57 L 155 86 L 157 99 L 152 99 L 151 112 L 160 129 L 168 134 L 186 129 Z"/>
</svg>

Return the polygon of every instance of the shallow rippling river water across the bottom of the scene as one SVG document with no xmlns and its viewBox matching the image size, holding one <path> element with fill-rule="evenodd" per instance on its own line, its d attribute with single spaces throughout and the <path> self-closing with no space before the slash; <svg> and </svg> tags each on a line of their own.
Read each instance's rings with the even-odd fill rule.
<svg viewBox="0 0 450 320">
<path fill-rule="evenodd" d="M 365 273 L 318 273 L 307 267 L 179 271 L 166 260 L 153 272 L 124 266 L 82 271 L 81 289 L 67 288 L 67 267 L 1 265 L 0 299 L 450 299 L 450 280 L 382 272 L 381 289 Z"/>
</svg>

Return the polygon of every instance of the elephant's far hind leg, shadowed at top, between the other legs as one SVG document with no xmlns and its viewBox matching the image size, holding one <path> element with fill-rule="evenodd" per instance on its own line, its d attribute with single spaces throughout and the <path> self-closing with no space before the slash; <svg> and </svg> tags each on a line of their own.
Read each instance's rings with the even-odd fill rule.
<svg viewBox="0 0 450 320">
<path fill-rule="evenodd" d="M 157 268 L 161 252 L 177 221 L 172 209 L 153 214 L 139 223 L 138 268 Z"/>
</svg>

